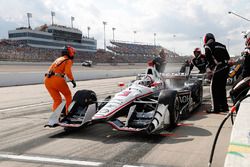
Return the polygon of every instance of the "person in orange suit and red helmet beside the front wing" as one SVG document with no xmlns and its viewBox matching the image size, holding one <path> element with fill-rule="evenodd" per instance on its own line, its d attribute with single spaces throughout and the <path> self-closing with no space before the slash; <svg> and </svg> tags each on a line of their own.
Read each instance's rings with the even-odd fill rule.
<svg viewBox="0 0 250 167">
<path fill-rule="evenodd" d="M 71 67 L 73 65 L 73 58 L 75 56 L 75 49 L 70 46 L 65 46 L 62 50 L 61 57 L 57 58 L 49 67 L 48 73 L 45 74 L 45 87 L 47 88 L 50 96 L 52 97 L 54 103 L 52 106 L 52 111 L 61 104 L 63 94 L 66 100 L 66 114 L 68 113 L 68 107 L 72 101 L 72 95 L 70 89 L 67 85 L 65 75 L 69 78 L 73 84 L 73 88 L 76 87 L 76 82 L 72 75 Z"/>
</svg>

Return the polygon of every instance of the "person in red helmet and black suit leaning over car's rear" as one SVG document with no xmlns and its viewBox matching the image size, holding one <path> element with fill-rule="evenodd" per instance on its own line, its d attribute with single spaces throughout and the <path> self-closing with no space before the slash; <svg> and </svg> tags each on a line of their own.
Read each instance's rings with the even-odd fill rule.
<svg viewBox="0 0 250 167">
<path fill-rule="evenodd" d="M 201 53 L 200 48 L 194 49 L 194 58 L 191 60 L 189 73 L 191 73 L 194 66 L 198 68 L 200 74 L 206 72 L 207 60 L 205 55 Z"/>
</svg>

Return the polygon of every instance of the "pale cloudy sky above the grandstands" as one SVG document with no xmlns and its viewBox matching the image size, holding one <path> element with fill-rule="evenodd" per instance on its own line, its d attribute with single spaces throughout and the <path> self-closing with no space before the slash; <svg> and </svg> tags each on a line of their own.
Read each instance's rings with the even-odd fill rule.
<svg viewBox="0 0 250 167">
<path fill-rule="evenodd" d="M 191 55 L 194 48 L 203 49 L 203 37 L 210 32 L 216 41 L 227 46 L 230 55 L 244 49 L 242 31 L 250 30 L 246 21 L 229 11 L 250 19 L 249 0 L 0 0 L 0 38 L 8 30 L 28 25 L 32 28 L 54 22 L 73 26 L 97 40 L 104 48 L 104 25 L 109 40 L 161 45 L 179 55 Z M 115 28 L 115 31 L 112 30 Z M 134 33 L 136 31 L 136 33 Z M 154 33 L 156 35 L 154 35 Z"/>
</svg>

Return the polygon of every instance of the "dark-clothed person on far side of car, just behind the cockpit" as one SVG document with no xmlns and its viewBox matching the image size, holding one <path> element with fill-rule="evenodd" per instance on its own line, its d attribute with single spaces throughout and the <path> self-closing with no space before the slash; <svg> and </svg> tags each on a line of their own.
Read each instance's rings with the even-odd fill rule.
<svg viewBox="0 0 250 167">
<path fill-rule="evenodd" d="M 159 56 L 157 56 L 156 58 L 154 58 L 154 60 L 152 61 L 153 65 L 155 66 L 155 69 L 159 72 L 159 73 L 163 73 L 167 64 L 167 60 L 166 60 L 166 53 L 164 52 L 164 49 L 162 49 L 159 53 Z"/>
</svg>

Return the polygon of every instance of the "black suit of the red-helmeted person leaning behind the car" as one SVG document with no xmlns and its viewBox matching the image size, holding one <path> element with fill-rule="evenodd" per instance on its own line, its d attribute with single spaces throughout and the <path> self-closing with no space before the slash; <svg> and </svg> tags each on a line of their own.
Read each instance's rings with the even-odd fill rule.
<svg viewBox="0 0 250 167">
<path fill-rule="evenodd" d="M 205 73 L 206 66 L 207 66 L 207 59 L 206 59 L 205 55 L 200 54 L 199 56 L 192 59 L 191 64 L 190 64 L 190 72 L 192 71 L 194 66 L 199 69 L 200 74 Z"/>
</svg>

